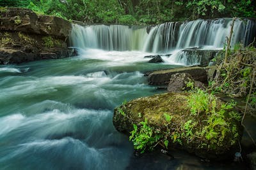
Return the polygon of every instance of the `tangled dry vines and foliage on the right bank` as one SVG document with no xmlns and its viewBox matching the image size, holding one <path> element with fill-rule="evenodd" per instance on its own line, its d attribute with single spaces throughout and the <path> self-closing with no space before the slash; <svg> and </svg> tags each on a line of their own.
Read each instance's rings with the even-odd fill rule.
<svg viewBox="0 0 256 170">
<path fill-rule="evenodd" d="M 218 71 L 211 88 L 232 97 L 247 97 L 252 87 L 250 104 L 255 109 L 256 83 L 253 74 L 256 71 L 256 48 L 235 48 L 228 55 L 228 62 L 218 60 Z"/>
</svg>

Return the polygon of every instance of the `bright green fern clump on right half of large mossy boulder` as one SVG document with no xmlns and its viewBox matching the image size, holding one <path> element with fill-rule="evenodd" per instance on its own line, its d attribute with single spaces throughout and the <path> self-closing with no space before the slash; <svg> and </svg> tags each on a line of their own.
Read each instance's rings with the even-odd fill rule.
<svg viewBox="0 0 256 170">
<path fill-rule="evenodd" d="M 191 115 L 204 113 L 205 120 L 204 122 L 197 122 L 195 117 L 191 117 L 191 120 L 184 124 L 182 136 L 185 135 L 191 140 L 200 138 L 200 146 L 204 147 L 206 143 L 209 143 L 208 148 L 236 143 L 238 137 L 237 125 L 231 123 L 241 120 L 241 116 L 232 111 L 236 103 L 223 103 L 221 106 L 217 106 L 216 97 L 200 89 L 191 92 L 188 103 L 191 108 Z M 198 124 L 204 124 L 202 129 L 196 129 Z M 233 137 L 229 138 L 228 133 L 232 134 Z"/>
</svg>

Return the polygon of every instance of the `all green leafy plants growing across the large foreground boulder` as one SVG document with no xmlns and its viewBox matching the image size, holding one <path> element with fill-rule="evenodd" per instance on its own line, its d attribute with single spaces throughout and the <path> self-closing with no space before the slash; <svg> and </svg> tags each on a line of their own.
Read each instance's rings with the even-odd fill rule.
<svg viewBox="0 0 256 170">
<path fill-rule="evenodd" d="M 188 115 L 179 119 L 172 113 L 163 113 L 163 123 L 159 127 L 148 124 L 147 118 L 134 124 L 129 139 L 136 150 L 152 150 L 156 145 L 165 148 L 170 143 L 189 145 L 204 150 L 230 148 L 239 139 L 239 121 L 241 115 L 234 111 L 236 103 L 223 103 L 204 90 L 188 92 Z M 174 123 L 175 122 L 175 123 Z"/>
</svg>

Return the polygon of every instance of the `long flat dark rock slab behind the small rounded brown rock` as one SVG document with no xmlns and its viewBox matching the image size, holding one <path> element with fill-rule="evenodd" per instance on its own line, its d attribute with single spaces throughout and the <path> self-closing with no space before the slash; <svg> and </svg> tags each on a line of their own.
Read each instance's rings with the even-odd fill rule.
<svg viewBox="0 0 256 170">
<path fill-rule="evenodd" d="M 207 83 L 207 73 L 204 67 L 179 67 L 175 69 L 166 69 L 150 73 L 148 75 L 148 84 L 168 85 L 172 74 L 175 73 L 189 73 L 194 80 Z"/>
</svg>

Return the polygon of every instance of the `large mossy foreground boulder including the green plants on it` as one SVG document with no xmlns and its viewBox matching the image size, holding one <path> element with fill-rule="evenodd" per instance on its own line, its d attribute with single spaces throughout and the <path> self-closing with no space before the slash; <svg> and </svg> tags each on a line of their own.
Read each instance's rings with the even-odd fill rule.
<svg viewBox="0 0 256 170">
<path fill-rule="evenodd" d="M 202 90 L 157 94 L 115 108 L 113 124 L 118 131 L 132 134 L 134 148 L 142 144 L 150 148 L 143 141 L 146 136 L 150 145 L 180 148 L 205 159 L 221 160 L 234 157 L 239 147 L 241 116 L 233 107 Z"/>
</svg>

